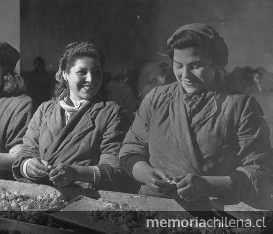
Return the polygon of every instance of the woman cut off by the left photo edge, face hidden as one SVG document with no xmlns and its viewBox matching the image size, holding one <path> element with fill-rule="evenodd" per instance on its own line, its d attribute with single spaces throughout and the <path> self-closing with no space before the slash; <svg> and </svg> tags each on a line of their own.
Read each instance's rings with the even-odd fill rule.
<svg viewBox="0 0 273 234">
<path fill-rule="evenodd" d="M 19 58 L 15 48 L 0 42 L 0 179 L 13 179 L 11 166 L 32 117 L 32 99 L 14 72 Z"/>
</svg>

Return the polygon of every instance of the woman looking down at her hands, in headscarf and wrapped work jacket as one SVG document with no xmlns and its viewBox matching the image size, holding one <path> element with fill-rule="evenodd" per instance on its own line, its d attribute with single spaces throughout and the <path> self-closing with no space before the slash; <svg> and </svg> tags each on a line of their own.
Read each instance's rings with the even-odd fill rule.
<svg viewBox="0 0 273 234">
<path fill-rule="evenodd" d="M 225 41 L 208 25 L 192 23 L 167 44 L 177 82 L 143 99 L 119 153 L 122 167 L 146 195 L 186 201 L 268 195 L 268 125 L 255 98 L 222 82 Z"/>
</svg>

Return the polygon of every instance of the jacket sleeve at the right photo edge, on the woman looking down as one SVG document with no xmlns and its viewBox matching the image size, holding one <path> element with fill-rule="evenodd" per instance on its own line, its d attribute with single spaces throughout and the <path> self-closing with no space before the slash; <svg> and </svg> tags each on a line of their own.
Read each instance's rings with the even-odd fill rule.
<svg viewBox="0 0 273 234">
<path fill-rule="evenodd" d="M 249 97 L 238 124 L 241 166 L 231 174 L 243 200 L 270 196 L 273 165 L 269 136 L 261 107 L 254 97 Z"/>
</svg>

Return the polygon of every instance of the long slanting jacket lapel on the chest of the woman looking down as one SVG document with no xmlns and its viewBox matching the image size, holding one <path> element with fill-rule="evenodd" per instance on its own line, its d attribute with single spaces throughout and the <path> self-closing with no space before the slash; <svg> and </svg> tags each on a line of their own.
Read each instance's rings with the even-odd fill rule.
<svg viewBox="0 0 273 234">
<path fill-rule="evenodd" d="M 173 99 L 170 102 L 169 116 L 174 128 L 175 136 L 179 142 L 179 149 L 182 152 L 183 165 L 185 169 L 191 170 L 192 173 L 202 175 L 190 136 L 186 110 L 183 103 L 183 89 L 179 87 L 173 92 Z"/>
</svg>

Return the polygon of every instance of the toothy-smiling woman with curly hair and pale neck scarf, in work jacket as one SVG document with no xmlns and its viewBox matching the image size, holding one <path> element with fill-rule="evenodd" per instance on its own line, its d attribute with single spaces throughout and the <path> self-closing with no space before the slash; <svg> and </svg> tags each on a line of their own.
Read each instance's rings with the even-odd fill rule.
<svg viewBox="0 0 273 234">
<path fill-rule="evenodd" d="M 55 98 L 34 114 L 12 170 L 21 182 L 67 186 L 73 181 L 128 189 L 118 151 L 129 128 L 116 103 L 101 100 L 104 55 L 91 42 L 65 47 Z"/>
</svg>

